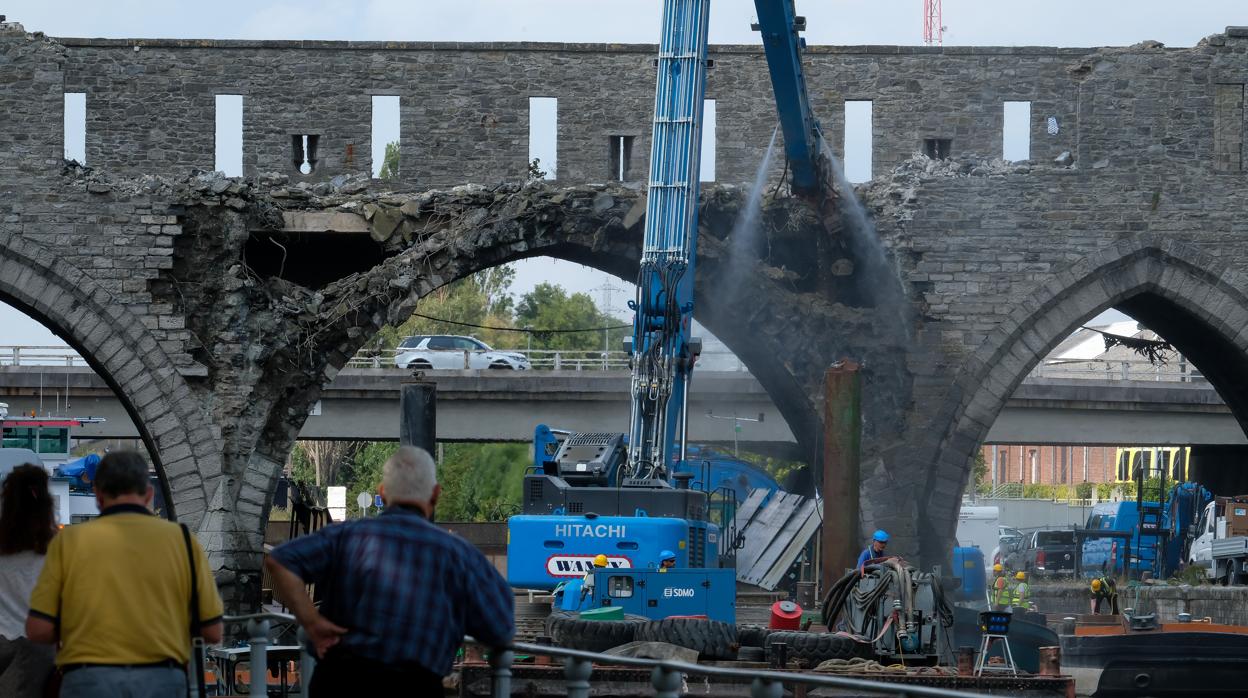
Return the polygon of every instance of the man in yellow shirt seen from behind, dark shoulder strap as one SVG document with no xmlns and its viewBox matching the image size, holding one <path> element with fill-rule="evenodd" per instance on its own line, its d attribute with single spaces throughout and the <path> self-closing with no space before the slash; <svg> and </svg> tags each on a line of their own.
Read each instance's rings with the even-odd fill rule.
<svg viewBox="0 0 1248 698">
<path fill-rule="evenodd" d="M 109 453 L 95 476 L 100 518 L 69 526 L 47 548 L 26 637 L 61 642 L 61 698 L 186 696 L 192 564 L 196 626 L 221 642 L 221 596 L 207 556 L 176 523 L 152 516 L 147 462 Z"/>
</svg>

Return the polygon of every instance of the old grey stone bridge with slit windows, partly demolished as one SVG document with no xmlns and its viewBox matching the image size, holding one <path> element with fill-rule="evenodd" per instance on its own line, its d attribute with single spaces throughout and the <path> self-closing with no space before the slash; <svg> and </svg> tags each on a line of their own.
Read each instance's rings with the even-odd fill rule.
<svg viewBox="0 0 1248 698">
<path fill-rule="evenodd" d="M 634 275 L 653 46 L 0 27 L 0 300 L 116 391 L 232 603 L 256 598 L 262 522 L 308 406 L 379 327 L 523 257 Z M 812 462 L 824 370 L 864 363 L 864 528 L 940 561 L 1006 398 L 1109 307 L 1174 342 L 1244 423 L 1246 52 L 1237 27 L 1181 50 L 814 47 L 832 144 L 844 102 L 872 101 L 865 210 L 846 199 L 821 220 L 780 186 L 743 243 L 733 182 L 753 177 L 774 106 L 759 47 L 713 49 L 696 315 Z M 62 160 L 71 92 L 86 95 L 92 170 Z M 220 94 L 243 97 L 242 180 L 205 174 Z M 401 97 L 394 181 L 367 177 L 373 95 Z M 530 96 L 559 100 L 555 181 L 524 182 Z M 1003 101 L 1031 102 L 1031 161 L 993 159 Z M 952 157 L 911 156 L 924 149 Z"/>
</svg>

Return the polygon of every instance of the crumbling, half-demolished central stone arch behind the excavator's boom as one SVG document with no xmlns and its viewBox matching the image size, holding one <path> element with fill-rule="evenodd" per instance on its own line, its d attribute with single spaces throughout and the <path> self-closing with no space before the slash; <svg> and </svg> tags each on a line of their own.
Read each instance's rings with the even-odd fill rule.
<svg viewBox="0 0 1248 698">
<path fill-rule="evenodd" d="M 567 201 L 568 197 L 583 201 Z M 406 243 L 371 271 L 323 290 L 326 306 L 349 306 L 353 318 L 349 322 L 334 321 L 336 326 L 323 332 L 322 337 L 328 340 L 323 345 L 327 361 L 321 380 L 293 385 L 285 395 L 273 398 L 273 405 L 281 408 L 270 411 L 266 417 L 263 448 L 247 456 L 242 489 L 235 496 L 246 502 L 270 502 L 283 455 L 293 443 L 307 407 L 317 400 L 321 386 L 333 380 L 382 325 L 409 317 L 418 300 L 434 288 L 489 267 L 538 256 L 583 263 L 631 280 L 636 273 L 644 226 L 644 217 L 634 214 L 644 207 L 644 200 L 640 204 L 639 200 L 635 190 L 592 187 L 522 192 L 514 199 L 522 202 L 518 207 L 498 205 L 493 195 L 468 202 L 463 197 L 447 196 L 447 201 L 428 205 L 427 209 L 439 212 L 439 221 L 453 222 Z M 600 201 L 608 205 L 599 205 Z M 494 206 L 489 216 L 479 215 L 484 211 L 478 209 L 489 206 Z M 463 221 L 462 225 L 459 221 Z M 704 226 L 699 241 L 700 263 L 724 248 L 724 241 L 709 235 Z M 703 270 L 708 267 L 713 265 L 703 265 Z M 703 270 L 699 271 L 700 280 Z M 750 278 L 753 287 L 748 293 L 768 291 L 770 280 L 758 276 Z M 396 285 L 399 278 L 404 281 Z M 703 292 L 703 282 L 699 281 L 698 291 L 699 320 L 750 366 L 780 407 L 804 452 L 812 453 L 814 436 L 819 431 L 817 412 L 801 378 L 794 375 L 792 366 L 774 361 L 786 348 L 778 340 L 781 332 L 769 333 L 765 341 L 740 340 L 736 335 L 740 335 L 743 313 L 726 307 L 716 308 L 713 296 Z M 378 287 L 388 287 L 389 292 L 378 295 Z M 796 313 L 766 312 L 761 303 L 751 312 L 756 312 L 763 322 L 784 323 L 786 328 L 797 321 Z"/>
</svg>

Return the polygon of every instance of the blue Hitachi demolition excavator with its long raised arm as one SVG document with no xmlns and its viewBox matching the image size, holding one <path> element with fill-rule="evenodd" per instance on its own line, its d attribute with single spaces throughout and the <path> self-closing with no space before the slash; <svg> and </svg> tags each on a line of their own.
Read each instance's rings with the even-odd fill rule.
<svg viewBox="0 0 1248 698">
<path fill-rule="evenodd" d="M 784 132 L 790 181 L 810 199 L 830 191 L 829 162 L 801 69 L 805 19 L 794 0 L 755 0 Z M 733 622 L 736 501 L 689 452 L 689 388 L 701 350 L 690 336 L 706 27 L 710 0 L 665 0 L 654 100 L 645 236 L 633 335 L 626 433 L 562 433 L 539 426 L 523 513 L 508 521 L 513 587 L 564 589 L 564 608 L 623 606 L 664 618 Z M 659 568 L 674 553 L 674 568 Z M 597 558 L 597 567 L 595 567 Z M 609 572 L 573 593 L 592 569 Z M 595 578 L 598 572 L 595 572 Z"/>
</svg>

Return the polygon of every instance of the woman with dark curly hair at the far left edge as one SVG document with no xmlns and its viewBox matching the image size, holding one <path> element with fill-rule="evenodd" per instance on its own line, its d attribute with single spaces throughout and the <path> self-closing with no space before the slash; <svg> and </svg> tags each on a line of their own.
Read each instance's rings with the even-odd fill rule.
<svg viewBox="0 0 1248 698">
<path fill-rule="evenodd" d="M 26 639 L 30 592 L 56 534 L 47 471 L 17 466 L 0 486 L 0 696 L 39 697 L 52 672 L 52 648 Z"/>
</svg>

